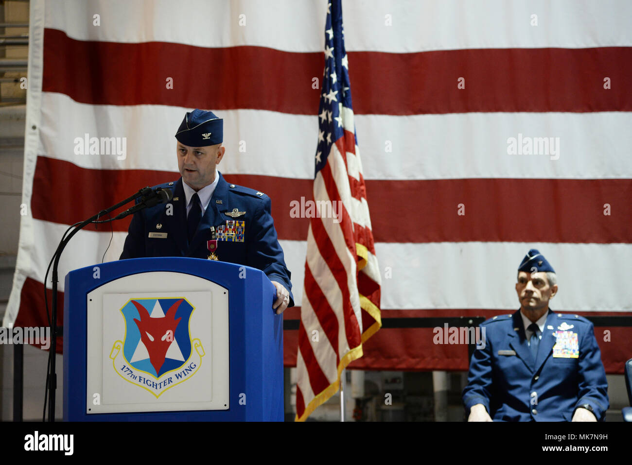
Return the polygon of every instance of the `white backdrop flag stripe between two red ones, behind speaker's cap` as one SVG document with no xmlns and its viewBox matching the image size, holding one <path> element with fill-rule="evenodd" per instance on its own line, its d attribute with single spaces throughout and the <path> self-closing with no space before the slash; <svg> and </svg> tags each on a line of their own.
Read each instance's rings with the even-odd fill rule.
<svg viewBox="0 0 632 465">
<path fill-rule="evenodd" d="M 39 155 L 92 169 L 178 171 L 174 127 L 186 109 L 80 104 L 42 94 Z M 226 173 L 313 179 L 317 116 L 263 110 L 225 110 Z M 140 124 L 151 120 L 152 124 Z M 632 178 L 632 112 L 458 113 L 355 116 L 365 179 L 628 179 Z M 278 128 L 285 128 L 283 150 Z M 75 138 L 125 136 L 128 156 L 75 155 Z M 508 155 L 507 139 L 559 138 L 560 156 Z M 595 136 L 578 136 L 593 134 Z M 240 152 L 240 142 L 246 152 Z M 387 145 L 388 143 L 388 145 Z M 356 148 L 356 154 L 358 148 Z M 387 150 L 391 150 L 387 152 Z M 607 162 L 602 155 L 607 153 Z M 422 156 L 423 154 L 423 156 Z M 271 163 L 270 160 L 274 160 Z M 353 163 L 353 162 L 351 162 Z M 358 170 L 351 166 L 352 176 Z"/>
</svg>

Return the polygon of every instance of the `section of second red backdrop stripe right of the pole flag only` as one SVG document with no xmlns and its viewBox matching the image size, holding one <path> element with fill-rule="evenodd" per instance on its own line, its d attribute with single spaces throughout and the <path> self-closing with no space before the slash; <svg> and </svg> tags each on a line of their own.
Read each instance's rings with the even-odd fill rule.
<svg viewBox="0 0 632 465">
<path fill-rule="evenodd" d="M 367 181 L 367 190 L 377 242 L 632 242 L 632 179 Z"/>
</svg>

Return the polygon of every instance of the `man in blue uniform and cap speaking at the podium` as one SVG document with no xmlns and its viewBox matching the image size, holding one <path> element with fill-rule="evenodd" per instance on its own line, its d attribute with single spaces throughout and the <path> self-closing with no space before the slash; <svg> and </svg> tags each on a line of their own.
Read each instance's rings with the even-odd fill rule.
<svg viewBox="0 0 632 465">
<path fill-rule="evenodd" d="M 209 258 L 260 269 L 276 287 L 272 308 L 282 313 L 294 300 L 270 198 L 216 170 L 225 152 L 223 123 L 210 111 L 186 113 L 176 132 L 181 178 L 155 186 L 171 189 L 173 199 L 134 214 L 120 258 Z"/>
</svg>

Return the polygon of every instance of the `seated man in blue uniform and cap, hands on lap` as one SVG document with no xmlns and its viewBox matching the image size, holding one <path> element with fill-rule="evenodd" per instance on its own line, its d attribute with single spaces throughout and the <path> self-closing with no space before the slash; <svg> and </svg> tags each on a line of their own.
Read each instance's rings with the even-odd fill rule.
<svg viewBox="0 0 632 465">
<path fill-rule="evenodd" d="M 604 419 L 608 385 L 593 325 L 549 309 L 556 282 L 530 250 L 518 268 L 520 310 L 481 323 L 485 347 L 474 352 L 463 390 L 468 421 Z"/>
</svg>

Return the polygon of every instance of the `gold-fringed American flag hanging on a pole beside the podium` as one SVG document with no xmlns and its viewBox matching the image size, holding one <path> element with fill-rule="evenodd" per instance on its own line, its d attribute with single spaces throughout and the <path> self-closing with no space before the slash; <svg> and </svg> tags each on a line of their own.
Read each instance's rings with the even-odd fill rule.
<svg viewBox="0 0 632 465">
<path fill-rule="evenodd" d="M 336 392 L 341 371 L 362 357 L 362 343 L 382 325 L 340 0 L 327 8 L 324 53 L 312 199 L 317 215 L 307 236 L 296 356 L 298 421 Z"/>
</svg>

